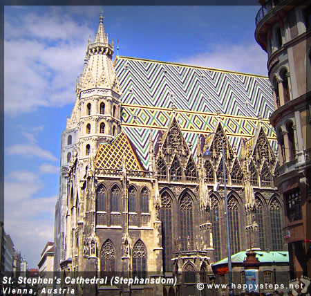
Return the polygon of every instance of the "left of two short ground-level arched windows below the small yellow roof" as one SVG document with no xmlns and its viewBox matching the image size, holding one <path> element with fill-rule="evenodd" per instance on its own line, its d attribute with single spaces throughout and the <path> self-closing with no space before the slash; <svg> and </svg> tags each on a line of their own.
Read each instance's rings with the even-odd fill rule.
<svg viewBox="0 0 311 296">
<path fill-rule="evenodd" d="M 115 271 L 115 247 L 113 243 L 108 239 L 102 245 L 102 250 L 100 250 L 100 273 L 101 277 L 113 276 Z"/>
</svg>

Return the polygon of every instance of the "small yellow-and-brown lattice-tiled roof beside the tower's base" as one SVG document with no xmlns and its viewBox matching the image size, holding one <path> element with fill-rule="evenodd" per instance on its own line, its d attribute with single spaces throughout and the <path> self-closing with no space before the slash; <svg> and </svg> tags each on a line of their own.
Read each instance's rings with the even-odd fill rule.
<svg viewBox="0 0 311 296">
<path fill-rule="evenodd" d="M 142 171 L 142 166 L 135 156 L 129 138 L 121 131 L 113 142 L 100 145 L 95 159 L 95 168 L 122 169 L 123 158 L 125 158 L 126 169 Z"/>
</svg>

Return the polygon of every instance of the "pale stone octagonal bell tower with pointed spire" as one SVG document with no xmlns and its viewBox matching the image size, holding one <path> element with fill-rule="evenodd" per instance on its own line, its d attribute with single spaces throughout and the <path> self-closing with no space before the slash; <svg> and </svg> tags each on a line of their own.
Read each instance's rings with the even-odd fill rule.
<svg viewBox="0 0 311 296">
<path fill-rule="evenodd" d="M 111 142 L 121 130 L 121 93 L 112 57 L 113 41 L 109 44 L 101 14 L 95 40 L 88 39 L 84 70 L 76 83 L 77 101 L 67 122 L 67 129 L 77 128 L 80 159 L 95 156 L 98 146 Z"/>
</svg>

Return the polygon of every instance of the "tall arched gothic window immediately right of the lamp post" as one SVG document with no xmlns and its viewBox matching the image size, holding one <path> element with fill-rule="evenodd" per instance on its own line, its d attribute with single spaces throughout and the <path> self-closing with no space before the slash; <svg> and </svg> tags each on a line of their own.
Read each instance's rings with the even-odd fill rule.
<svg viewBox="0 0 311 296">
<path fill-rule="evenodd" d="M 239 205 L 234 196 L 228 198 L 229 230 L 232 254 L 240 251 Z"/>
</svg>

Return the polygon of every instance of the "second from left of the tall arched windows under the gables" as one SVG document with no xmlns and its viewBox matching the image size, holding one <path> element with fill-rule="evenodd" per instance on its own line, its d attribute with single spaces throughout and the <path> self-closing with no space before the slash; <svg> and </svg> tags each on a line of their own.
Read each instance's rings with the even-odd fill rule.
<svg viewBox="0 0 311 296">
<path fill-rule="evenodd" d="M 180 237 L 182 250 L 194 249 L 194 205 L 186 193 L 180 199 Z"/>
</svg>

